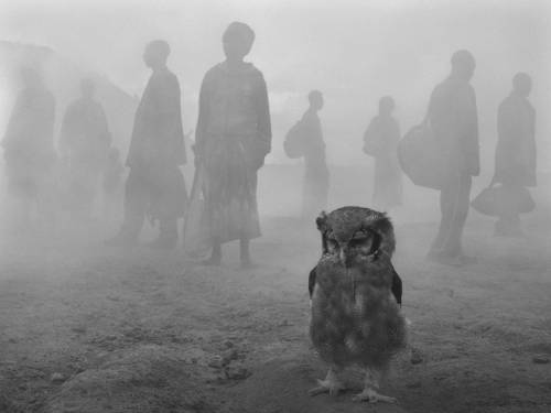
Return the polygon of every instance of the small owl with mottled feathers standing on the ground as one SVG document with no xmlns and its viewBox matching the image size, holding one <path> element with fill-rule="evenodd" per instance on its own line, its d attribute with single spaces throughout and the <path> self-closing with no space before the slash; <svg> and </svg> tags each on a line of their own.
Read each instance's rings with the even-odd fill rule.
<svg viewBox="0 0 551 413">
<path fill-rule="evenodd" d="M 322 213 L 316 224 L 323 254 L 309 279 L 310 336 L 329 370 L 310 394 L 338 394 L 344 389 L 338 372 L 358 366 L 365 381 L 355 401 L 396 402 L 378 392 L 390 359 L 406 346 L 402 285 L 390 261 L 392 224 L 361 207 Z"/>
</svg>

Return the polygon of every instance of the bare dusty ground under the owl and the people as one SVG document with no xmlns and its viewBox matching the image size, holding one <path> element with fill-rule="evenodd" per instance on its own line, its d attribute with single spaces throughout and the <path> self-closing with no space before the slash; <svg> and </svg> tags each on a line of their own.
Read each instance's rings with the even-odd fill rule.
<svg viewBox="0 0 551 413">
<path fill-rule="evenodd" d="M 551 239 L 490 237 L 471 222 L 479 262 L 423 261 L 434 224 L 398 227 L 410 344 L 385 391 L 400 406 L 309 398 L 325 374 L 307 338 L 315 229 L 264 219 L 258 267 L 179 251 L 101 246 L 105 229 L 6 239 L 0 272 L 0 412 L 549 412 Z M 66 236 L 66 235 L 65 235 Z M 25 247 L 21 246 L 25 241 Z"/>
</svg>

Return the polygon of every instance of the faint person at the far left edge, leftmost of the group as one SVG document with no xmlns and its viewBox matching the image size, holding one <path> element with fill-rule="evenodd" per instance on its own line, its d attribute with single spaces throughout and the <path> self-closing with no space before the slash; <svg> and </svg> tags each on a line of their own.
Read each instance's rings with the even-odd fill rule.
<svg viewBox="0 0 551 413">
<path fill-rule="evenodd" d="M 28 224 L 36 207 L 41 219 L 52 218 L 54 189 L 55 99 L 35 68 L 21 70 L 19 93 L 2 140 L 8 188 L 18 200 L 18 211 Z"/>
</svg>

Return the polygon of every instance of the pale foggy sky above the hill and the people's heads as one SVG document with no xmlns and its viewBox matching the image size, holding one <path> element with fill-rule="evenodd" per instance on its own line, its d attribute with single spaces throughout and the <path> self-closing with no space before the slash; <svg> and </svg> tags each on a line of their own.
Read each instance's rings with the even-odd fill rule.
<svg viewBox="0 0 551 413">
<path fill-rule="evenodd" d="M 365 162 L 361 133 L 377 100 L 392 95 L 402 130 L 420 121 L 426 99 L 449 70 L 451 54 L 471 50 L 483 152 L 493 152 L 495 116 L 516 72 L 532 74 L 540 148 L 551 154 L 551 2 L 539 0 L 0 0 L 0 39 L 47 45 L 71 62 L 107 75 L 140 95 L 148 70 L 143 45 L 165 39 L 184 94 L 185 129 L 194 128 L 204 73 L 223 59 L 227 24 L 250 24 L 248 57 L 270 89 L 273 157 L 305 109 L 305 95 L 325 94 L 321 112 L 329 160 Z M 489 155 L 488 155 L 489 156 Z M 545 161 L 544 160 L 544 161 Z"/>
</svg>

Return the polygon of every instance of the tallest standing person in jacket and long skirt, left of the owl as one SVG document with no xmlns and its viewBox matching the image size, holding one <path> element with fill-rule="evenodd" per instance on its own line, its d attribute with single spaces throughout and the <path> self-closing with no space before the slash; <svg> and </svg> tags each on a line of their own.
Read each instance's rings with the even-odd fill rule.
<svg viewBox="0 0 551 413">
<path fill-rule="evenodd" d="M 244 62 L 253 41 L 247 24 L 229 24 L 226 61 L 206 73 L 201 87 L 195 151 L 205 174 L 212 247 L 206 264 L 219 265 L 222 244 L 238 239 L 241 265 L 250 265 L 249 241 L 260 236 L 257 171 L 270 152 L 271 124 L 262 73 Z"/>
</svg>

